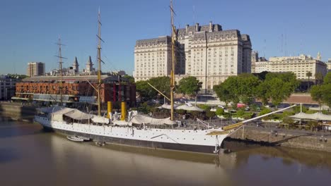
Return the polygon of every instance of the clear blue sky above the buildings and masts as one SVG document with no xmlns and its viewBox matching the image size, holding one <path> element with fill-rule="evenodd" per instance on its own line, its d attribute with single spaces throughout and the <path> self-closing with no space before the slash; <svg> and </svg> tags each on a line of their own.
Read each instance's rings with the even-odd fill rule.
<svg viewBox="0 0 331 186">
<path fill-rule="evenodd" d="M 59 35 L 66 46 L 64 66 L 77 56 L 80 69 L 95 61 L 97 13 L 103 23 L 103 71 L 134 69 L 134 44 L 170 34 L 169 0 L 1 0 L 0 74 L 25 74 L 29 61 L 57 68 Z M 209 21 L 223 30 L 250 35 L 260 56 L 294 56 L 321 52 L 331 58 L 331 1 L 328 0 L 174 0 L 175 25 Z"/>
</svg>

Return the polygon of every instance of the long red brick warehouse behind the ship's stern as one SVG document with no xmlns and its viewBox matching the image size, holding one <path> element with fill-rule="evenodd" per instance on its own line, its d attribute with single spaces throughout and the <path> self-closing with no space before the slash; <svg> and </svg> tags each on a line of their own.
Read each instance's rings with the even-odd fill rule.
<svg viewBox="0 0 331 186">
<path fill-rule="evenodd" d="M 129 84 L 117 75 L 102 75 L 100 97 L 103 103 L 126 101 L 128 105 L 136 104 L 136 85 Z M 16 100 L 60 101 L 59 76 L 28 77 L 16 83 Z M 62 77 L 62 100 L 64 103 L 96 104 L 97 93 L 90 83 L 97 87 L 96 75 L 78 75 Z M 90 82 L 90 83 L 89 83 Z"/>
</svg>

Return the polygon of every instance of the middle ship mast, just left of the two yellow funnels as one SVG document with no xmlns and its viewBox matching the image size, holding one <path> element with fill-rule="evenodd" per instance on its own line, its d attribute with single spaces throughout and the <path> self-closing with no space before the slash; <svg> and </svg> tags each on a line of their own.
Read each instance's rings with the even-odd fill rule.
<svg viewBox="0 0 331 186">
<path fill-rule="evenodd" d="M 98 11 L 98 116 L 101 116 L 101 97 L 100 97 L 100 89 L 101 89 L 101 21 L 100 21 L 100 7 Z"/>
</svg>

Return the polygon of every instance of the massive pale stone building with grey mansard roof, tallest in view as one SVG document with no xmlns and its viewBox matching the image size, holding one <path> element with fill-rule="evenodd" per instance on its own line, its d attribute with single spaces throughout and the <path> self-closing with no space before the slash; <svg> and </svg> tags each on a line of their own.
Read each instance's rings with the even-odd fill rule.
<svg viewBox="0 0 331 186">
<path fill-rule="evenodd" d="M 177 30 L 176 80 L 194 76 L 203 89 L 212 89 L 231 75 L 250 73 L 252 44 L 239 30 L 222 30 L 221 25 L 190 26 Z M 134 49 L 134 78 L 169 75 L 171 38 L 138 40 Z"/>
</svg>

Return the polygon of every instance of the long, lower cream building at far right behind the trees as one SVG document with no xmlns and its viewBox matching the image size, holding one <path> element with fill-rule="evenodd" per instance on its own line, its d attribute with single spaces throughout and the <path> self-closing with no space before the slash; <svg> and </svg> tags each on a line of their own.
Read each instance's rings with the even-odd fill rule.
<svg viewBox="0 0 331 186">
<path fill-rule="evenodd" d="M 321 73 L 323 76 L 327 73 L 327 65 L 323 61 L 311 56 L 301 54 L 300 56 L 271 57 L 269 61 L 252 61 L 252 73 L 262 73 L 268 71 L 272 73 L 293 72 L 298 80 L 308 80 L 306 73 L 312 73 L 310 80 L 315 80 L 315 74 Z"/>
</svg>

